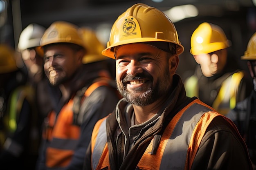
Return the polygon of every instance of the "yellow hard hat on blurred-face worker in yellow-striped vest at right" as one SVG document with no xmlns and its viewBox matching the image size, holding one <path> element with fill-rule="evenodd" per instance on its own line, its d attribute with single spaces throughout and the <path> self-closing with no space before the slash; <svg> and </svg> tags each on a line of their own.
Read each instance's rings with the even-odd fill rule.
<svg viewBox="0 0 256 170">
<path fill-rule="evenodd" d="M 192 55 L 212 53 L 231 46 L 224 31 L 220 26 L 203 22 L 198 26 L 191 36 Z"/>
</svg>

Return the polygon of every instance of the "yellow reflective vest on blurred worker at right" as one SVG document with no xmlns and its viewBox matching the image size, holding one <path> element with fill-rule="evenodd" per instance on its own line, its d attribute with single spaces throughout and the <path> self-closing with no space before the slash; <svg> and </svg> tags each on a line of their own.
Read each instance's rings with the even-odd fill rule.
<svg viewBox="0 0 256 170">
<path fill-rule="evenodd" d="M 220 114 L 226 115 L 229 110 L 236 106 L 236 96 L 238 94 L 239 84 L 244 77 L 243 71 L 238 71 L 227 77 L 220 86 L 220 91 L 213 102 L 213 108 Z M 186 95 L 188 97 L 199 97 L 198 94 L 198 78 L 193 75 L 189 77 L 184 83 Z M 203 88 L 203 87 L 202 87 Z M 199 97 L 200 98 L 200 97 Z"/>
</svg>

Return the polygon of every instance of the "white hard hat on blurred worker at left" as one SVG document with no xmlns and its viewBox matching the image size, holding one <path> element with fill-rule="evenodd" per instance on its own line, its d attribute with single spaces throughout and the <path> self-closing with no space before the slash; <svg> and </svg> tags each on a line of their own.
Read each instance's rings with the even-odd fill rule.
<svg viewBox="0 0 256 170">
<path fill-rule="evenodd" d="M 18 43 L 20 51 L 32 47 L 40 46 L 40 40 L 45 32 L 45 28 L 38 24 L 29 24 L 21 33 Z"/>
</svg>

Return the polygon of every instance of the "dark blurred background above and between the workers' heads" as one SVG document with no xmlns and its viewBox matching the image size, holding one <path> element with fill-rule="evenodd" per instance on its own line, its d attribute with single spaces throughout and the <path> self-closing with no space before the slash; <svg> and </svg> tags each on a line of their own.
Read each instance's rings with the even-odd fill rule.
<svg viewBox="0 0 256 170">
<path fill-rule="evenodd" d="M 0 43 L 16 48 L 20 32 L 28 24 L 48 27 L 56 20 L 65 20 L 91 27 L 106 44 L 112 24 L 135 3 L 156 7 L 174 22 L 185 48 L 177 70 L 182 79 L 194 72 L 196 62 L 189 53 L 190 38 L 202 22 L 222 27 L 232 42 L 234 61 L 247 70 L 240 56 L 256 32 L 256 0 L 0 0 Z"/>
</svg>

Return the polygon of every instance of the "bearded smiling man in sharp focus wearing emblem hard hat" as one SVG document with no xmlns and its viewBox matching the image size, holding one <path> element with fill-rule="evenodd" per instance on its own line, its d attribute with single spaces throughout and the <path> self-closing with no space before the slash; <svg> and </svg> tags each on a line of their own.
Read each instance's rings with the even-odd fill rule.
<svg viewBox="0 0 256 170">
<path fill-rule="evenodd" d="M 124 99 L 94 126 L 84 170 L 252 169 L 234 123 L 186 97 L 183 51 L 162 11 L 135 4 L 117 18 L 102 54 L 116 60 Z"/>
</svg>

